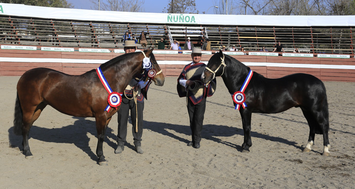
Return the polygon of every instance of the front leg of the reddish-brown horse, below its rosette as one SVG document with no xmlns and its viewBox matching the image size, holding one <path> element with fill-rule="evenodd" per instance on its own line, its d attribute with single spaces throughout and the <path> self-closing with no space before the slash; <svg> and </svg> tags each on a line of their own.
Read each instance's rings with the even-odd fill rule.
<svg viewBox="0 0 355 189">
<path fill-rule="evenodd" d="M 98 157 L 97 163 L 99 165 L 108 165 L 105 157 L 103 156 L 103 140 L 105 137 L 106 128 L 110 123 L 111 118 L 107 119 L 105 116 L 96 117 L 96 130 L 97 130 L 97 147 L 96 155 Z"/>
</svg>

